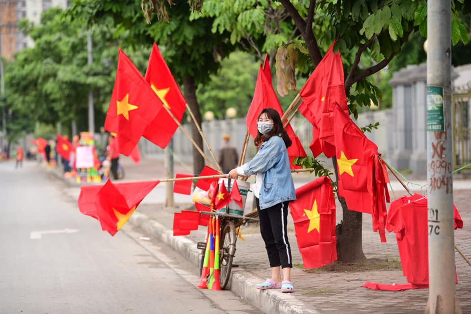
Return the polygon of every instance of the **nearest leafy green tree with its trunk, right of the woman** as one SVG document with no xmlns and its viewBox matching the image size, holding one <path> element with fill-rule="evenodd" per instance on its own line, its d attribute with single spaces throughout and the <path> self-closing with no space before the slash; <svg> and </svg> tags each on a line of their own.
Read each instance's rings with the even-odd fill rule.
<svg viewBox="0 0 471 314">
<path fill-rule="evenodd" d="M 467 44 L 469 34 L 461 24 L 458 13 L 458 6 L 463 1 L 454 2 L 458 5 L 453 3 L 451 39 L 453 44 L 459 41 Z M 426 36 L 425 0 L 205 0 L 201 14 L 215 17 L 213 31 L 232 31 L 232 42 L 248 34 L 264 47 L 270 40 L 262 22 L 267 21 L 269 10 L 280 3 L 290 17 L 283 23 L 291 27 L 289 33 L 284 33 L 284 28 L 281 28 L 276 34 L 277 38 L 285 40 L 278 41 L 278 45 L 282 44 L 276 62 L 279 94 L 295 90 L 295 72 L 310 72 L 332 42 L 336 41 L 334 51 L 340 50 L 342 53 L 345 91 L 349 110 L 355 118 L 359 108 L 369 107 L 372 103 L 378 105 L 378 100 L 383 97 L 377 86 L 378 78 L 375 80 L 373 75 L 401 53 L 409 36 L 415 33 Z M 288 34 L 290 40 L 286 41 Z M 368 126 L 366 129 L 371 128 Z M 335 158 L 333 164 L 337 169 Z M 345 201 L 342 198 L 339 200 L 343 209 L 343 223 L 338 234 L 339 259 L 344 262 L 364 259 L 361 214 L 349 211 Z"/>
</svg>

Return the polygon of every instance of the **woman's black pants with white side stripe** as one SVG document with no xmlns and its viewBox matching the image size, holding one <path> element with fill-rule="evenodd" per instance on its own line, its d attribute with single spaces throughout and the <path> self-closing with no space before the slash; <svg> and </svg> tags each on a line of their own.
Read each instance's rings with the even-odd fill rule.
<svg viewBox="0 0 471 314">
<path fill-rule="evenodd" d="M 287 233 L 288 203 L 283 202 L 266 209 L 260 209 L 260 201 L 255 198 L 260 219 L 260 233 L 265 242 L 270 267 L 293 267 L 291 247 Z"/>
</svg>

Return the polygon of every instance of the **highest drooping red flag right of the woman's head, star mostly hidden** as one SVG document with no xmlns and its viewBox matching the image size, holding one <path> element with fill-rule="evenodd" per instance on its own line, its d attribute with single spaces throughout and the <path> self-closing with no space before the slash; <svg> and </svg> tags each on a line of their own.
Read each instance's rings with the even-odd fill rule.
<svg viewBox="0 0 471 314">
<path fill-rule="evenodd" d="M 343 65 L 340 51 L 333 52 L 335 41 L 313 73 L 299 91 L 303 102 L 299 111 L 306 119 L 319 129 L 318 138 L 331 146 L 334 140 L 334 107 L 338 103 L 348 113 L 347 97 L 343 82 Z M 329 148 L 321 145 L 322 148 Z M 335 152 L 324 151 L 326 157 L 333 157 Z"/>
</svg>

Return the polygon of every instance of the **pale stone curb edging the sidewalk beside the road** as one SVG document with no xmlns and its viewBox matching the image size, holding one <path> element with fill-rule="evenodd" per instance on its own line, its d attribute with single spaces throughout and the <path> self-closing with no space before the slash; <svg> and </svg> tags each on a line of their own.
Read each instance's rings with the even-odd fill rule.
<svg viewBox="0 0 471 314">
<path fill-rule="evenodd" d="M 196 248 L 196 243 L 192 240 L 186 237 L 173 236 L 172 230 L 137 211 L 131 215 L 128 222 L 170 246 L 173 250 L 182 254 L 188 261 L 199 265 L 201 250 Z M 292 294 L 282 294 L 279 291 L 255 288 L 255 285 L 260 283 L 261 278 L 252 275 L 243 268 L 237 267 L 237 269 L 233 269 L 231 272 L 231 278 L 228 283 L 229 289 L 263 313 L 320 314 L 318 311 L 308 310 L 310 305 Z"/>
</svg>

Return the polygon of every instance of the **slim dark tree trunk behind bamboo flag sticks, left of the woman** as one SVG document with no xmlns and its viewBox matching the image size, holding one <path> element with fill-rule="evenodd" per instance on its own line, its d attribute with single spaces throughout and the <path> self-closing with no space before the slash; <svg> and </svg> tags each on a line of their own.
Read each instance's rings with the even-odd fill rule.
<svg viewBox="0 0 471 314">
<path fill-rule="evenodd" d="M 183 85 L 184 85 L 184 94 L 188 105 L 193 111 L 195 116 L 196 122 L 201 126 L 201 121 L 203 120 L 201 117 L 200 112 L 200 105 L 198 104 L 198 100 L 196 99 L 196 86 L 195 86 L 195 79 L 193 77 L 186 77 L 183 78 Z M 201 137 L 198 128 L 194 123 L 191 124 L 191 137 L 195 141 L 196 145 L 198 145 L 203 150 L 203 138 Z M 198 150 L 193 147 L 193 172 L 195 175 L 200 174 L 205 166 L 205 158 L 201 156 Z"/>
</svg>

